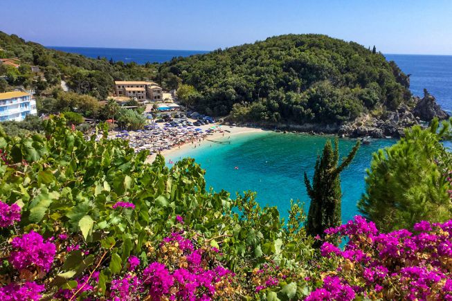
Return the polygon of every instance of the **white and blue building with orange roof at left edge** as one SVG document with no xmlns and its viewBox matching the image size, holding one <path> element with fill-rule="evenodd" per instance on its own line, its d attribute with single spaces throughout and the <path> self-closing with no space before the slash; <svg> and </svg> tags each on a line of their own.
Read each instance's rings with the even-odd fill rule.
<svg viewBox="0 0 452 301">
<path fill-rule="evenodd" d="M 37 115 L 36 100 L 22 91 L 0 93 L 0 121 L 21 121 L 28 115 Z"/>
</svg>

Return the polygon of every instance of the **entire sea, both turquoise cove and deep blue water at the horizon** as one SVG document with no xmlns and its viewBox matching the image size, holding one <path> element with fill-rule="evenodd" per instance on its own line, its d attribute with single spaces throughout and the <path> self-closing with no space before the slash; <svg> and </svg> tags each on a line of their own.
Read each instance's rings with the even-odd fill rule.
<svg viewBox="0 0 452 301">
<path fill-rule="evenodd" d="M 60 51 L 80 53 L 88 57 L 107 57 L 115 61 L 165 62 L 172 57 L 185 57 L 207 51 L 165 51 L 152 49 L 51 47 Z M 410 74 L 410 89 L 422 96 L 424 88 L 435 96 L 446 111 L 452 111 L 452 56 L 387 54 L 404 73 Z M 231 197 L 251 190 L 262 207 L 277 206 L 283 218 L 288 217 L 290 201 L 300 200 L 309 209 L 303 174 L 314 174 L 316 158 L 327 139 L 332 136 L 281 134 L 264 131 L 237 134 L 230 144 L 205 143 L 196 149 L 173 153 L 166 161 L 189 156 L 206 170 L 206 183 L 215 191 L 226 190 Z M 227 139 L 226 137 L 224 139 Z M 356 140 L 339 139 L 339 152 L 345 156 Z M 394 139 L 372 140 L 361 145 L 354 160 L 341 174 L 342 219 L 350 220 L 359 214 L 356 203 L 365 192 L 366 169 L 372 154 L 396 143 Z M 168 163 L 169 166 L 172 164 Z M 236 169 L 235 167 L 238 167 Z"/>
</svg>

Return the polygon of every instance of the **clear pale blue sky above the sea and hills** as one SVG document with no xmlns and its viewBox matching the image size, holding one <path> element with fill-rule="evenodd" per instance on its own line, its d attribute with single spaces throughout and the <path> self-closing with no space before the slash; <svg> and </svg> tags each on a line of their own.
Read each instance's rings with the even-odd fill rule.
<svg viewBox="0 0 452 301">
<path fill-rule="evenodd" d="M 0 30 L 45 46 L 206 50 L 321 33 L 452 55 L 450 0 L 1 0 Z"/>
</svg>

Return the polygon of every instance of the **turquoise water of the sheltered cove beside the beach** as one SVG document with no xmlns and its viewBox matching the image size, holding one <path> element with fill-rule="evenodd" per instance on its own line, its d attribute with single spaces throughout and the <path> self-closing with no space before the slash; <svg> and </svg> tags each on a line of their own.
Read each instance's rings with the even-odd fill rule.
<svg viewBox="0 0 452 301">
<path fill-rule="evenodd" d="M 181 154 L 196 159 L 206 170 L 207 184 L 215 191 L 227 190 L 232 197 L 235 192 L 256 191 L 257 201 L 262 206 L 278 206 L 282 217 L 287 217 L 291 199 L 300 199 L 305 202 L 305 209 L 309 208 L 303 172 L 311 179 L 316 157 L 327 138 L 332 136 L 274 132 L 236 134 L 231 136 L 230 145 L 206 142 L 196 149 L 183 150 Z M 345 156 L 355 143 L 353 139 L 339 139 L 341 156 Z M 364 191 L 365 169 L 370 166 L 372 152 L 393 143 L 395 140 L 380 139 L 362 145 L 350 167 L 343 172 L 343 221 L 358 213 L 356 201 Z M 181 154 L 174 153 L 165 160 L 177 161 Z"/>
</svg>

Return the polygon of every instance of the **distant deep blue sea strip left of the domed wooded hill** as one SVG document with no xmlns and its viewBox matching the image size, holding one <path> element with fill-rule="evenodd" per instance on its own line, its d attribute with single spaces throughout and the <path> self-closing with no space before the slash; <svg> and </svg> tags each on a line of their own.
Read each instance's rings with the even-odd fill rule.
<svg viewBox="0 0 452 301">
<path fill-rule="evenodd" d="M 136 64 L 163 63 L 170 61 L 173 57 L 188 57 L 208 53 L 209 51 L 185 51 L 185 50 L 164 50 L 164 49 L 134 49 L 134 48 L 93 48 L 93 47 L 60 47 L 47 46 L 47 48 L 66 53 L 78 53 L 86 57 L 96 59 L 106 57 L 107 60 L 113 59 L 115 62 L 123 61 L 125 63 L 136 62 Z"/>
</svg>

